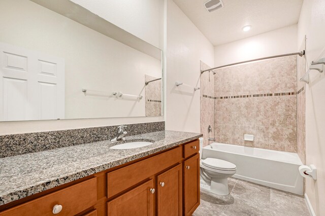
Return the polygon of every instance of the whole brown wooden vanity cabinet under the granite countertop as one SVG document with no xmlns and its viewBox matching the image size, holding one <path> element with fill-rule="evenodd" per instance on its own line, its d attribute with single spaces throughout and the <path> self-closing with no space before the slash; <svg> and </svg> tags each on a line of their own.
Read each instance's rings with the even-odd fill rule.
<svg viewBox="0 0 325 216">
<path fill-rule="evenodd" d="M 191 215 L 200 205 L 199 140 L 0 206 L 0 216 Z M 53 214 L 53 206 L 62 205 Z"/>
</svg>

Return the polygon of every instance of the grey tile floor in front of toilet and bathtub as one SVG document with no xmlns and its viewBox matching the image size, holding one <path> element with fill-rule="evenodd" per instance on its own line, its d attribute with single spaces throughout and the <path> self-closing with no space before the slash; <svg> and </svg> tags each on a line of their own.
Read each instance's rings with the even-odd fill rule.
<svg viewBox="0 0 325 216">
<path fill-rule="evenodd" d="M 229 178 L 228 196 L 201 191 L 201 204 L 192 216 L 308 216 L 304 198 Z"/>
</svg>

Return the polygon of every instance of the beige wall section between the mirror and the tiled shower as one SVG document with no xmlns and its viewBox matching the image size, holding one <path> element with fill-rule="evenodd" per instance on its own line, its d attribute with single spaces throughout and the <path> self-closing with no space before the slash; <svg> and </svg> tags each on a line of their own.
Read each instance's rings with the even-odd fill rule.
<svg viewBox="0 0 325 216">
<path fill-rule="evenodd" d="M 200 60 L 213 65 L 214 49 L 172 1 L 167 1 L 168 130 L 200 132 Z M 176 81 L 184 84 L 176 87 Z M 213 109 L 213 107 L 211 107 Z"/>
</svg>

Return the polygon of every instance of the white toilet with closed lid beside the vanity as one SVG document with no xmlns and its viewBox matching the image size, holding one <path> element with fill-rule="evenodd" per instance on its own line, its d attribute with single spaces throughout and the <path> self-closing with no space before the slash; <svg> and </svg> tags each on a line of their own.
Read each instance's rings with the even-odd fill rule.
<svg viewBox="0 0 325 216">
<path fill-rule="evenodd" d="M 236 165 L 216 158 L 202 159 L 202 151 L 203 138 L 200 138 L 201 189 L 218 195 L 228 195 L 228 177 L 236 173 Z"/>
</svg>

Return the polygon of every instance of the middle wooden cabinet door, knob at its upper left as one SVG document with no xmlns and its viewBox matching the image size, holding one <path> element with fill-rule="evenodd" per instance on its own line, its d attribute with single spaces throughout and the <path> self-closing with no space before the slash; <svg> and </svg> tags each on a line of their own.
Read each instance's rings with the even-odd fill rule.
<svg viewBox="0 0 325 216">
<path fill-rule="evenodd" d="M 158 215 L 182 215 L 182 164 L 157 176 Z"/>
</svg>

